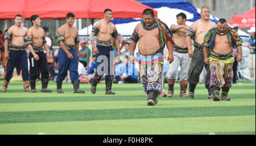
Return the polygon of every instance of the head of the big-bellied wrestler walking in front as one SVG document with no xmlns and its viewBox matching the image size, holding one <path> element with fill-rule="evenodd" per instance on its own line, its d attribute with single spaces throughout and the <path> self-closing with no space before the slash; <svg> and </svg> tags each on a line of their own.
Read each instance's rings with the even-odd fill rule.
<svg viewBox="0 0 256 146">
<path fill-rule="evenodd" d="M 152 25 L 155 24 L 155 14 L 154 14 L 154 11 L 151 10 L 150 8 L 146 8 L 142 12 L 142 16 L 143 16 L 143 22 L 146 27 L 151 27 Z"/>
</svg>

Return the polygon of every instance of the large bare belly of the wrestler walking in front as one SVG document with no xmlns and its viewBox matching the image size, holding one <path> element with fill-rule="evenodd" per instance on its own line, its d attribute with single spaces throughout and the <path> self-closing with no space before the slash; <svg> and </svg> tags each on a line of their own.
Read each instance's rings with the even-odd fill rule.
<svg viewBox="0 0 256 146">
<path fill-rule="evenodd" d="M 139 40 L 138 47 L 142 55 L 152 55 L 160 49 L 158 38 L 152 36 L 142 37 L 141 40 Z"/>
</svg>

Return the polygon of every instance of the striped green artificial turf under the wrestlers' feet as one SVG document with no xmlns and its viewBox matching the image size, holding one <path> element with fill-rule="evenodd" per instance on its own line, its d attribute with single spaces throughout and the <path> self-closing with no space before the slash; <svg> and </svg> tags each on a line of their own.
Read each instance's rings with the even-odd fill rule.
<svg viewBox="0 0 256 146">
<path fill-rule="evenodd" d="M 195 99 L 159 97 L 147 106 L 141 84 L 113 84 L 116 95 L 105 95 L 105 84 L 80 84 L 85 94 L 73 93 L 63 83 L 64 94 L 22 92 L 22 82 L 10 82 L 0 92 L 0 134 L 255 134 L 255 84 L 238 81 L 229 92 L 231 101 L 208 100 L 204 84 L 196 87 Z M 168 84 L 165 84 L 167 92 Z M 150 128 L 148 128 L 150 126 Z"/>
</svg>

